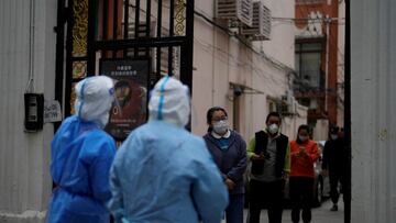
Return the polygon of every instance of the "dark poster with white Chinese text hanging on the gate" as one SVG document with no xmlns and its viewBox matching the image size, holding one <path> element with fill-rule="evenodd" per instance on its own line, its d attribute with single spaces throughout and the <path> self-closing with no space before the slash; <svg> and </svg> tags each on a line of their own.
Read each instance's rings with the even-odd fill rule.
<svg viewBox="0 0 396 223">
<path fill-rule="evenodd" d="M 148 59 L 101 59 L 99 70 L 114 80 L 116 104 L 105 130 L 123 141 L 147 120 Z"/>
</svg>

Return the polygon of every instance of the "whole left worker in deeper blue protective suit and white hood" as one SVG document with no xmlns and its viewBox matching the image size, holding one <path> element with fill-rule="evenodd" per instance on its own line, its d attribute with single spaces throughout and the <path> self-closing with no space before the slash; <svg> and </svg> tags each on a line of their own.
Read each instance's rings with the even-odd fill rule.
<svg viewBox="0 0 396 223">
<path fill-rule="evenodd" d="M 50 223 L 106 223 L 111 198 L 109 172 L 116 143 L 102 129 L 114 100 L 112 79 L 98 76 L 76 86 L 76 115 L 67 118 L 51 145 L 51 175 L 56 185 Z"/>
</svg>

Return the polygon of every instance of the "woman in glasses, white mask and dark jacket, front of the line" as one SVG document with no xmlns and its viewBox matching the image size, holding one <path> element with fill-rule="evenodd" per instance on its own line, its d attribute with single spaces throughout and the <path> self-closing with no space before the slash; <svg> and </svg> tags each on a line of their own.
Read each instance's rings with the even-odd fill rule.
<svg viewBox="0 0 396 223">
<path fill-rule="evenodd" d="M 246 169 L 246 143 L 229 129 L 224 109 L 213 107 L 207 112 L 208 133 L 204 136 L 215 163 L 229 189 L 230 202 L 226 209 L 227 223 L 243 222 L 243 174 Z"/>
</svg>

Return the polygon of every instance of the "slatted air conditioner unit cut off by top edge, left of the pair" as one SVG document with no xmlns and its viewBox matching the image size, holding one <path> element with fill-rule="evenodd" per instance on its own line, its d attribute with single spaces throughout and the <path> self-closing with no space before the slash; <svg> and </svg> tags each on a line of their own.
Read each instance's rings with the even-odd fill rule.
<svg viewBox="0 0 396 223">
<path fill-rule="evenodd" d="M 253 21 L 253 0 L 218 0 L 219 19 L 238 20 L 251 26 Z"/>
</svg>

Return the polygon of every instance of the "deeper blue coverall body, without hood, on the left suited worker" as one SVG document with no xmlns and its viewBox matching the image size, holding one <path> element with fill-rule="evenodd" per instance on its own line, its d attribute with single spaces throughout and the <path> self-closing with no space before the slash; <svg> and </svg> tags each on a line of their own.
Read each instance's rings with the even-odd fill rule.
<svg viewBox="0 0 396 223">
<path fill-rule="evenodd" d="M 52 142 L 51 175 L 54 189 L 50 223 L 105 223 L 111 198 L 109 170 L 114 141 L 94 122 L 66 119 Z"/>
</svg>

